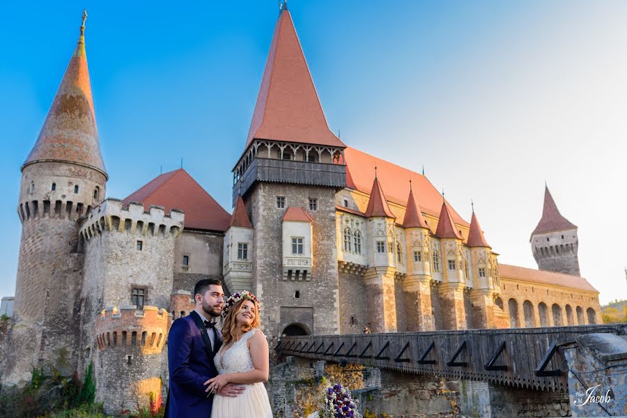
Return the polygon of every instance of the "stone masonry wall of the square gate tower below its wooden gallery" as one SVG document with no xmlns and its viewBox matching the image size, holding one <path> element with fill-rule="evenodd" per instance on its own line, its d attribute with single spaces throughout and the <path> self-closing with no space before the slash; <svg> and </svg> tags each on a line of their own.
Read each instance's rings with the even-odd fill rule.
<svg viewBox="0 0 627 418">
<path fill-rule="evenodd" d="M 284 209 L 277 208 L 277 196 L 285 197 Z M 308 210 L 309 198 L 318 199 L 318 210 Z M 339 332 L 334 199 L 334 189 L 274 183 L 258 183 L 245 196 L 255 227 L 252 291 L 261 300 L 261 327 L 268 336 L 302 318 L 310 318 L 314 334 Z M 305 208 L 314 219 L 313 268 L 306 281 L 283 279 L 281 221 L 290 206 Z"/>
</svg>

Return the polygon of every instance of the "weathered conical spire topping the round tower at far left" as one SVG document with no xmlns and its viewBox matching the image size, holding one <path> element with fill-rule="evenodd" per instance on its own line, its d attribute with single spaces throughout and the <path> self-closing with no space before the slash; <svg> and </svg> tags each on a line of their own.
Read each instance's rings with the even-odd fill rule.
<svg viewBox="0 0 627 418">
<path fill-rule="evenodd" d="M 84 165 L 107 176 L 104 169 L 98 127 L 96 127 L 91 84 L 85 52 L 86 10 L 80 35 L 61 86 L 56 92 L 41 132 L 22 169 L 40 161 L 60 161 Z"/>
</svg>

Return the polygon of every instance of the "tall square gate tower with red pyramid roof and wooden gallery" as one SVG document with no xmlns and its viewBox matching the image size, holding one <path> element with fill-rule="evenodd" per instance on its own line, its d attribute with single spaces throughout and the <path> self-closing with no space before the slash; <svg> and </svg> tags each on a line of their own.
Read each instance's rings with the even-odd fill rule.
<svg viewBox="0 0 627 418">
<path fill-rule="evenodd" d="M 327 125 L 284 6 L 233 169 L 233 203 L 242 196 L 254 226 L 247 256 L 266 334 L 339 331 L 335 194 L 346 185 L 344 148 Z"/>
</svg>

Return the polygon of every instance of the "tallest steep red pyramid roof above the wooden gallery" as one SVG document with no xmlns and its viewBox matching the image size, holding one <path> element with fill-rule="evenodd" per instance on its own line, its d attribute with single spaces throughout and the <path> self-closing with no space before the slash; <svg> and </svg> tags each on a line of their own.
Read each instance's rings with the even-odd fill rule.
<svg viewBox="0 0 627 418">
<path fill-rule="evenodd" d="M 345 146 L 327 125 L 288 10 L 274 29 L 246 148 L 255 138 Z"/>
</svg>

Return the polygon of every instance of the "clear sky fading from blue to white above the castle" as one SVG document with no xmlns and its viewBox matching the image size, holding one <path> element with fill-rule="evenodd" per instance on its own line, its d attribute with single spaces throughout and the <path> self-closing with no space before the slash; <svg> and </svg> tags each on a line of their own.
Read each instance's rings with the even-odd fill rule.
<svg viewBox="0 0 627 418">
<path fill-rule="evenodd" d="M 231 212 L 277 0 L 3 2 L 0 295 L 15 293 L 20 166 L 88 8 L 107 196 L 183 166 Z M 536 268 L 544 182 L 601 302 L 627 298 L 626 1 L 291 0 L 331 129 L 420 171 L 501 263 Z"/>
</svg>

